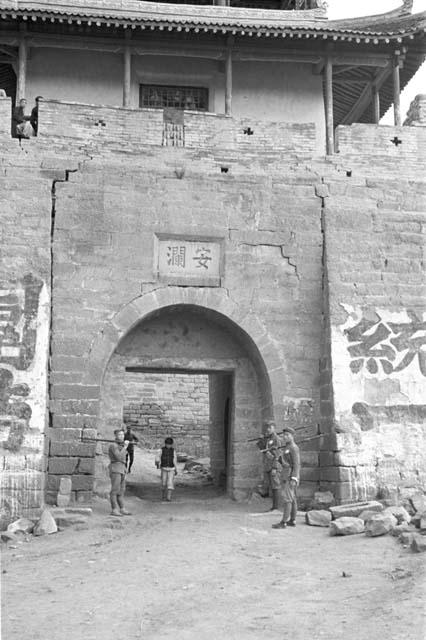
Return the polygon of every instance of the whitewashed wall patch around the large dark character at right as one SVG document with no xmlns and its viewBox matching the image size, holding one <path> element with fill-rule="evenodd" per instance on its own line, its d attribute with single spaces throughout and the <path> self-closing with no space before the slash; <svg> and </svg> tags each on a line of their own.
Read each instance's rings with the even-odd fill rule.
<svg viewBox="0 0 426 640">
<path fill-rule="evenodd" d="M 344 305 L 348 313 L 346 322 L 332 327 L 333 390 L 336 422 L 340 433 L 337 435 L 341 449 L 341 464 L 356 467 L 356 486 L 353 498 L 364 500 L 371 497 L 372 487 L 385 487 L 395 499 L 404 497 L 417 485 L 424 484 L 426 472 L 426 447 L 424 425 L 409 415 L 401 422 L 389 420 L 381 407 L 424 406 L 426 402 L 426 377 L 419 367 L 420 355 L 416 355 L 402 371 L 386 374 L 375 359 L 378 371 L 370 373 L 363 365 L 358 373 L 350 369 L 351 357 L 348 352 L 346 329 L 351 329 L 363 317 L 360 307 Z M 377 308 L 375 312 L 380 322 L 410 325 L 411 319 L 406 310 L 398 312 Z M 421 318 L 421 314 L 420 314 Z M 423 314 L 423 321 L 426 314 Z M 367 332 L 369 335 L 374 326 Z M 415 333 L 416 338 L 424 336 L 423 331 Z M 387 340 L 380 341 L 376 349 L 384 345 L 393 347 L 391 334 Z M 414 335 L 414 334 L 413 334 Z M 419 347 L 419 354 L 420 354 Z M 393 362 L 396 367 L 407 350 L 396 354 Z M 367 358 L 365 358 L 366 360 Z M 352 413 L 355 403 L 365 403 L 373 411 L 374 424 L 371 429 L 362 430 Z M 374 414 L 375 408 L 379 412 Z M 404 415 L 404 414 L 401 414 Z M 398 494 L 399 491 L 399 494 Z"/>
</svg>

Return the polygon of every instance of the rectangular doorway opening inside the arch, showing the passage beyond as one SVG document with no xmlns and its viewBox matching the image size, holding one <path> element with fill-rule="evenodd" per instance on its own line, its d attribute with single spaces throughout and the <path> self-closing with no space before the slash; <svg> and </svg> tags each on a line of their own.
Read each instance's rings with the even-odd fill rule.
<svg viewBox="0 0 426 640">
<path fill-rule="evenodd" d="M 174 499 L 223 493 L 231 459 L 232 373 L 127 367 L 124 376 L 123 424 L 139 440 L 128 491 L 160 498 L 155 455 L 172 437 L 178 456 Z"/>
</svg>

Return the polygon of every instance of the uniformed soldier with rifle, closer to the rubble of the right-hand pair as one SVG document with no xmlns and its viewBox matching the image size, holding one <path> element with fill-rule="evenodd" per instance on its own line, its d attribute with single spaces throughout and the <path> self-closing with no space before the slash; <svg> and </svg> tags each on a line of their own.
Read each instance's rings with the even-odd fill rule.
<svg viewBox="0 0 426 640">
<path fill-rule="evenodd" d="M 273 529 L 285 529 L 296 526 L 297 516 L 297 486 L 300 481 L 300 453 L 299 447 L 294 441 L 294 430 L 291 427 L 284 427 L 283 431 L 284 448 L 281 449 L 282 470 L 282 501 L 283 517 L 280 522 L 273 524 Z"/>
</svg>

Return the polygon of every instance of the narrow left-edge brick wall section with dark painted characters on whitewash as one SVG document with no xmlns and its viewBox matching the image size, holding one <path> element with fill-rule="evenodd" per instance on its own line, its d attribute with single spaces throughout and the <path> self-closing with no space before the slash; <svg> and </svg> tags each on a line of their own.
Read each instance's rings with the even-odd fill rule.
<svg viewBox="0 0 426 640">
<path fill-rule="evenodd" d="M 10 99 L 0 99 L 0 123 Z M 0 126 L 1 126 L 0 124 Z M 1 133 L 0 133 L 1 136 Z M 51 184 L 6 128 L 0 157 L 0 527 L 44 503 Z"/>
</svg>

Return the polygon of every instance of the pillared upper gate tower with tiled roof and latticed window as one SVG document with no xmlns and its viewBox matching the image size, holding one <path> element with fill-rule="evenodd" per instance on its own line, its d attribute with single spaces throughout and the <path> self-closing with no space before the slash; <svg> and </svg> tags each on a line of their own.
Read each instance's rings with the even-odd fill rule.
<svg viewBox="0 0 426 640">
<path fill-rule="evenodd" d="M 328 21 L 319 1 L 0 0 L 0 88 L 28 105 L 313 123 L 333 153 L 339 124 L 377 123 L 392 103 L 401 123 L 400 90 L 426 53 L 426 12 L 411 5 Z"/>
</svg>

